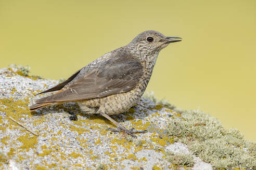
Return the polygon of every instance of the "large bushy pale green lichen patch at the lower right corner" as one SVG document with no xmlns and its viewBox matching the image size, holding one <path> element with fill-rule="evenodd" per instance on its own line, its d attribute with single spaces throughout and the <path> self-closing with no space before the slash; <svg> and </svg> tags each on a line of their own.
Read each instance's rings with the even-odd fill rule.
<svg viewBox="0 0 256 170">
<path fill-rule="evenodd" d="M 216 118 L 200 110 L 184 111 L 182 118 L 170 122 L 169 135 L 187 144 L 214 169 L 256 168 L 255 145 L 249 145 L 238 130 L 224 129 Z"/>
</svg>

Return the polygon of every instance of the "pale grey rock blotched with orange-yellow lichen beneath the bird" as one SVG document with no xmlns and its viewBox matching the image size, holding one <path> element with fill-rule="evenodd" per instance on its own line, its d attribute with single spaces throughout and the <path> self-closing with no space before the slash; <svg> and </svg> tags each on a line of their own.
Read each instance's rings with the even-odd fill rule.
<svg viewBox="0 0 256 170">
<path fill-rule="evenodd" d="M 129 111 L 112 116 L 128 129 L 134 127 L 148 131 L 133 138 L 125 133 L 106 131 L 108 127 L 114 127 L 110 121 L 82 112 L 75 103 L 30 112 L 28 105 L 43 96 L 34 94 L 54 86 L 58 81 L 29 76 L 27 73 L 25 68 L 16 66 L 0 69 L 0 169 L 157 170 L 217 167 L 211 164 L 214 158 L 195 150 L 202 146 L 190 143 L 191 139 L 196 138 L 191 134 L 193 131 L 186 131 L 189 123 L 177 123 L 187 117 L 183 118 L 181 112 L 166 101 L 158 101 L 150 95 L 151 100 L 142 98 Z M 69 120 L 69 110 L 78 114 L 78 121 Z M 201 124 L 196 125 L 194 131 L 200 130 L 201 126 L 207 127 L 211 122 L 197 123 Z M 221 131 L 213 133 L 213 137 L 219 139 L 222 133 L 229 133 L 231 137 L 227 140 L 232 144 L 246 145 L 239 133 Z M 207 130 L 204 128 L 202 132 L 207 133 Z M 200 132 L 194 134 L 202 138 Z M 207 144 L 207 137 L 200 142 Z M 190 145 L 195 147 L 191 148 Z M 255 159 L 254 143 L 245 149 L 248 150 L 248 161 Z M 198 155 L 202 155 L 203 159 Z M 253 167 L 252 163 L 247 167 Z"/>
</svg>

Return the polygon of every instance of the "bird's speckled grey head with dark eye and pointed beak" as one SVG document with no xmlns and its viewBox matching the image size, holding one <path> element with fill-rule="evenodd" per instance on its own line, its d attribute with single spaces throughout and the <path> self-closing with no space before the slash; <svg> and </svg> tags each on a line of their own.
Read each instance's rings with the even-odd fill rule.
<svg viewBox="0 0 256 170">
<path fill-rule="evenodd" d="M 131 52 L 145 58 L 157 57 L 157 54 L 170 43 L 181 41 L 180 37 L 167 37 L 157 31 L 145 31 L 137 35 L 129 45 Z M 148 59 L 146 59 L 148 60 Z"/>
</svg>

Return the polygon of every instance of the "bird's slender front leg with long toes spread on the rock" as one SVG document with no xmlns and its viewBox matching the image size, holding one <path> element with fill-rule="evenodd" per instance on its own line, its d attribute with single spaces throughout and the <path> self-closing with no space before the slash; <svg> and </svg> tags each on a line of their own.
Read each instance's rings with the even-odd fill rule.
<svg viewBox="0 0 256 170">
<path fill-rule="evenodd" d="M 105 118 L 107 118 L 108 120 L 110 120 L 114 125 L 116 125 L 118 127 L 118 129 L 113 129 L 113 128 L 108 128 L 106 130 L 108 131 L 112 131 L 112 132 L 126 132 L 127 134 L 131 135 L 132 137 L 136 137 L 135 135 L 133 135 L 133 133 L 146 133 L 146 130 L 143 131 L 137 131 L 134 130 L 134 128 L 127 130 L 125 129 L 124 126 L 122 126 L 121 124 L 119 124 L 116 120 L 112 119 L 110 116 L 108 116 L 107 114 L 100 112 L 101 116 L 104 116 Z"/>
</svg>

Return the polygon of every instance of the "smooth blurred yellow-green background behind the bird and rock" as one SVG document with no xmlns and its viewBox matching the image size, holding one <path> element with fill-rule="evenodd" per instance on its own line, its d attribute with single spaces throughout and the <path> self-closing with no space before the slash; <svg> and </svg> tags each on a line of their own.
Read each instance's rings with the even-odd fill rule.
<svg viewBox="0 0 256 170">
<path fill-rule="evenodd" d="M 255 0 L 0 0 L 0 68 L 67 79 L 146 30 L 183 38 L 160 52 L 147 91 L 256 140 Z"/>
</svg>

